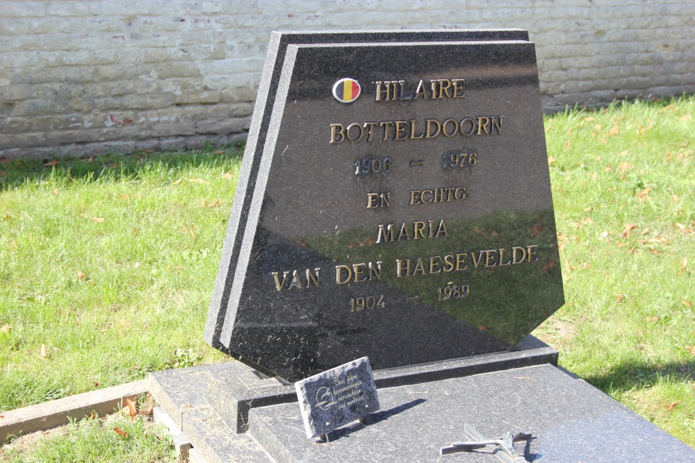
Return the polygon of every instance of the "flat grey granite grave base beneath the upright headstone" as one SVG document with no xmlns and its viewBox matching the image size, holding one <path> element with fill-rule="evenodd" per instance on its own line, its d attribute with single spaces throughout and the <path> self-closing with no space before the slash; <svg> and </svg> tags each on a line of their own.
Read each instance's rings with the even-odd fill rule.
<svg viewBox="0 0 695 463">
<path fill-rule="evenodd" d="M 240 362 L 152 373 L 151 392 L 207 463 L 499 462 L 487 451 L 439 455 L 469 440 L 530 432 L 518 443 L 544 462 L 695 462 L 695 450 L 555 367 L 529 337 L 520 351 L 375 371 L 382 410 L 329 444 L 307 439 L 294 387 Z"/>
</svg>

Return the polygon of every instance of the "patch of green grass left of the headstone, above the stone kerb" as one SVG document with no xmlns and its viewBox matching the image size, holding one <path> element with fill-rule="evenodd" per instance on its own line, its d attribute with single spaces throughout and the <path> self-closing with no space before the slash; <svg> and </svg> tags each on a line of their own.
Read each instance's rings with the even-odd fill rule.
<svg viewBox="0 0 695 463">
<path fill-rule="evenodd" d="M 202 329 L 238 148 L 0 166 L 0 410 L 224 358 Z"/>
</svg>

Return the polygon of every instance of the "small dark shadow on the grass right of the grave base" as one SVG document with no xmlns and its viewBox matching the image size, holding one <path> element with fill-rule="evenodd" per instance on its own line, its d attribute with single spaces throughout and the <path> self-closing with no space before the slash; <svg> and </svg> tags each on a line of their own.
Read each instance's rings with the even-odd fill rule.
<svg viewBox="0 0 695 463">
<path fill-rule="evenodd" d="M 644 362 L 626 362 L 616 365 L 603 374 L 582 376 L 603 392 L 629 391 L 644 389 L 667 380 L 669 382 L 688 382 L 695 380 L 695 360 L 669 362 L 666 364 L 645 364 Z"/>
</svg>

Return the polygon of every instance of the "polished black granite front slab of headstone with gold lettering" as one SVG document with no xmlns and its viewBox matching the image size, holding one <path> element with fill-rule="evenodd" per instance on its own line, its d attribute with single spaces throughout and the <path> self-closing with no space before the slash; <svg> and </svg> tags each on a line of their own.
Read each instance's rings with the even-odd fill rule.
<svg viewBox="0 0 695 463">
<path fill-rule="evenodd" d="M 505 351 L 563 303 L 530 42 L 288 45 L 255 175 L 208 334 L 261 369 Z"/>
</svg>

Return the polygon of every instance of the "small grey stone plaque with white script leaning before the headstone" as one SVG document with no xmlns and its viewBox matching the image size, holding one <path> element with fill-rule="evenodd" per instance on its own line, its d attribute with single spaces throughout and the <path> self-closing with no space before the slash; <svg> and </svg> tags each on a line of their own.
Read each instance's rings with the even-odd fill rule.
<svg viewBox="0 0 695 463">
<path fill-rule="evenodd" d="M 368 357 L 295 382 L 306 437 L 316 437 L 379 410 Z"/>
</svg>

